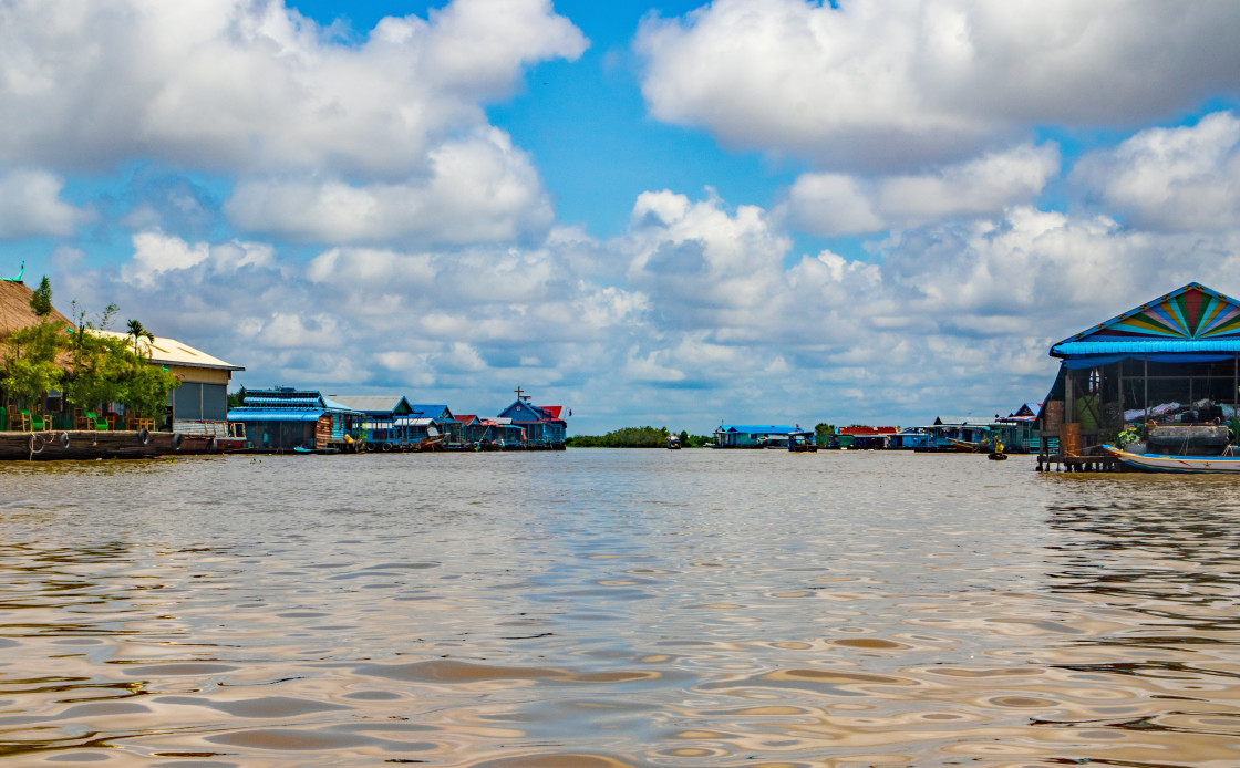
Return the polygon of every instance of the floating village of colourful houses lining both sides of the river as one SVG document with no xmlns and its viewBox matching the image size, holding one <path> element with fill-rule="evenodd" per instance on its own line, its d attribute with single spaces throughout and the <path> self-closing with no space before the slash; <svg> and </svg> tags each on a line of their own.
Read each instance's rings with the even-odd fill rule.
<svg viewBox="0 0 1240 768">
<path fill-rule="evenodd" d="M 446 404 L 401 395 L 285 386 L 242 390 L 241 401 L 229 408 L 229 383 L 242 365 L 155 336 L 135 321 L 129 333 L 94 328 L 82 317 L 74 323 L 48 301 L 40 307 L 38 291 L 20 277 L 0 281 L 0 373 L 7 383 L 0 388 L 0 460 L 556 451 L 568 441 L 565 415 L 572 411 L 534 405 L 520 386 L 495 416 L 456 414 Z M 38 380 L 37 365 L 15 339 L 32 338 L 41 327 L 77 334 L 79 346 L 91 339 L 124 349 L 136 362 L 122 378 L 141 379 L 139 362 L 169 374 L 166 398 L 159 394 L 156 408 L 144 412 L 125 398 L 113 401 L 107 388 L 69 393 L 31 384 Z M 63 344 L 56 348 L 60 352 L 42 363 L 53 369 L 45 370 L 47 380 L 58 380 L 55 369 L 74 365 L 79 379 L 97 375 L 74 363 Z M 1047 395 L 1007 416 L 940 416 L 924 426 L 825 432 L 800 425 L 723 424 L 709 447 L 985 453 L 993 460 L 1024 453 L 1035 456 L 1038 471 L 1240 471 L 1233 447 L 1240 435 L 1236 300 L 1193 282 L 1052 346 L 1050 356 L 1060 368 Z M 681 448 L 681 439 L 670 435 L 667 447 Z"/>
</svg>

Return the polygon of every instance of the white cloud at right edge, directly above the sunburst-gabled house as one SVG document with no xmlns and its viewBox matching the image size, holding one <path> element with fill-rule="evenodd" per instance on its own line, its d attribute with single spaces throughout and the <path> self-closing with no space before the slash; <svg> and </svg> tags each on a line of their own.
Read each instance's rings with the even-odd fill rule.
<svg viewBox="0 0 1240 768">
<path fill-rule="evenodd" d="M 1240 228 L 1240 118 L 1215 113 L 1197 125 L 1148 129 L 1084 157 L 1075 183 L 1141 228 Z"/>
</svg>

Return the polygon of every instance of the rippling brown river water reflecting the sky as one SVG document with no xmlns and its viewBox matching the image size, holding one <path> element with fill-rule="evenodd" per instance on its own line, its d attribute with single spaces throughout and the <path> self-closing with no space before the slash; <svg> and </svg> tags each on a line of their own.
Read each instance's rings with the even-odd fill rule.
<svg viewBox="0 0 1240 768">
<path fill-rule="evenodd" d="M 1238 524 L 1029 457 L 0 465 L 0 759 L 1234 767 Z"/>
</svg>

